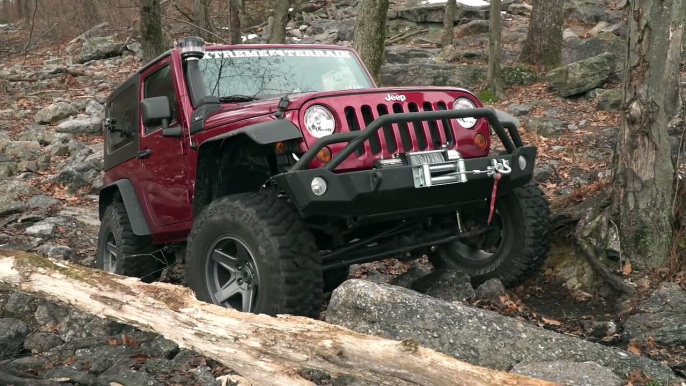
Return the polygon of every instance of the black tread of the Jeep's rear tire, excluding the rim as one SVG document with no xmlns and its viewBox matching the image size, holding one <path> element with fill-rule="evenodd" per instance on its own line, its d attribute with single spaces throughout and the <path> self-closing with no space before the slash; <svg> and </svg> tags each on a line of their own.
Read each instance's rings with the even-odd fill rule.
<svg viewBox="0 0 686 386">
<path fill-rule="evenodd" d="M 147 236 L 136 236 L 123 202 L 112 202 L 105 210 L 105 218 L 110 218 L 112 231 L 119 234 L 121 254 L 117 264 L 121 265 L 120 274 L 137 277 L 143 282 L 153 282 L 162 274 L 163 262 L 155 256 L 155 246 Z"/>
</svg>

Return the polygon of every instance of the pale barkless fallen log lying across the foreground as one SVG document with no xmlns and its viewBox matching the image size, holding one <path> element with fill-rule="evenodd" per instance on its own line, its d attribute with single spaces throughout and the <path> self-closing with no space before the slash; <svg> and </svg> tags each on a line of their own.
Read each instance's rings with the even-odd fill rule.
<svg viewBox="0 0 686 386">
<path fill-rule="evenodd" d="M 367 336 L 303 317 L 244 314 L 200 302 L 180 286 L 22 252 L 0 250 L 0 288 L 160 334 L 255 385 L 311 385 L 301 376 L 308 370 L 376 385 L 555 385 L 461 362 L 413 339 Z"/>
</svg>

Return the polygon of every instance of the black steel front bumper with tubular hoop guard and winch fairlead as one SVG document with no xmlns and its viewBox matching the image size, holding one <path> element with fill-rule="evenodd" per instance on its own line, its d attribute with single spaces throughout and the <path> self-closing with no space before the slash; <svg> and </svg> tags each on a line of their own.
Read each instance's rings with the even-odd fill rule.
<svg viewBox="0 0 686 386">
<path fill-rule="evenodd" d="M 334 172 L 357 146 L 384 125 L 471 116 L 488 119 L 494 132 L 503 142 L 507 154 L 483 158 L 446 159 L 445 162 L 432 163 L 429 166 L 404 163 L 400 166 L 363 171 Z M 484 108 L 384 115 L 362 131 L 334 134 L 319 139 L 290 171 L 276 175 L 272 180 L 285 191 L 305 217 L 385 217 L 448 212 L 474 203 L 484 203 L 490 199 L 495 181 L 495 173 L 492 171 L 494 160 L 501 164 L 506 163 L 510 169 L 509 172 L 500 174 L 498 195 L 531 180 L 536 148 L 523 146 L 517 132 L 517 124 L 517 120 L 506 113 Z M 321 148 L 340 142 L 349 143 L 324 167 L 305 169 Z M 521 157 L 526 161 L 524 169 L 520 167 Z M 427 168 L 435 169 L 432 179 L 435 178 L 436 184 L 429 182 L 425 174 L 429 172 Z M 322 195 L 316 195 L 312 191 L 312 180 L 316 177 L 326 181 L 327 189 Z M 438 184 L 439 181 L 443 184 Z M 430 186 L 426 186 L 427 184 Z"/>
</svg>

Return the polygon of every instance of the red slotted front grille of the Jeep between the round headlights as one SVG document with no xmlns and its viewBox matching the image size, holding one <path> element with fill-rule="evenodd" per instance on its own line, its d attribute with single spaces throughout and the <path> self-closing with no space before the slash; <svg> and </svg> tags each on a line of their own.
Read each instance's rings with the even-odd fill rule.
<svg viewBox="0 0 686 386">
<path fill-rule="evenodd" d="M 447 105 L 442 101 L 424 102 L 421 105 L 414 102 L 405 105 L 402 103 L 379 103 L 376 106 L 365 104 L 359 109 L 347 106 L 344 109 L 345 119 L 341 121 L 347 131 L 358 131 L 382 115 L 446 109 Z M 355 153 L 358 156 L 382 154 L 383 157 L 390 157 L 397 153 L 439 149 L 445 143 L 453 148 L 456 129 L 460 129 L 457 123 L 447 119 L 393 124 L 383 127 L 376 135 L 372 135 L 368 141 L 365 141 L 364 146 L 355 150 Z"/>
</svg>

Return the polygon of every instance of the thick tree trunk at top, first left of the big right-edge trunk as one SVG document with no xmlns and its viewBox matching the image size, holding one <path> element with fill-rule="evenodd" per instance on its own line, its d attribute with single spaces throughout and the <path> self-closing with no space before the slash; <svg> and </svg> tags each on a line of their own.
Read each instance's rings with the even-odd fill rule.
<svg viewBox="0 0 686 386">
<path fill-rule="evenodd" d="M 565 0 L 533 0 L 521 61 L 548 70 L 562 64 L 564 3 Z"/>
</svg>

